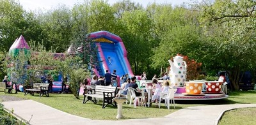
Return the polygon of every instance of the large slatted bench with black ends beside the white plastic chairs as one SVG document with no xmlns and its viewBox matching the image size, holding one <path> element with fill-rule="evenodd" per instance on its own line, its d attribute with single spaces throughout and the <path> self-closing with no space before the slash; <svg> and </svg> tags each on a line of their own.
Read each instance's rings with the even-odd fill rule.
<svg viewBox="0 0 256 125">
<path fill-rule="evenodd" d="M 118 87 L 96 85 L 94 89 L 90 87 L 90 85 L 86 85 L 83 93 L 84 95 L 83 103 L 86 103 L 87 101 L 93 101 L 93 103 L 96 104 L 97 103 L 96 98 L 100 98 L 103 100 L 102 108 L 106 108 L 106 106 L 109 104 L 113 105 L 113 107 L 116 107 L 116 102 L 113 101 L 113 98 L 116 97 L 117 92 L 118 92 Z"/>
</svg>

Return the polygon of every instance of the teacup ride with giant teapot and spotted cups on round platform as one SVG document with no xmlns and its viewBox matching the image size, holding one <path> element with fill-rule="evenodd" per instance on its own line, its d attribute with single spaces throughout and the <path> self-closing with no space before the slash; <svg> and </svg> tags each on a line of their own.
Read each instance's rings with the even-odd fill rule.
<svg viewBox="0 0 256 125">
<path fill-rule="evenodd" d="M 228 98 L 221 92 L 222 82 L 193 80 L 186 82 L 187 64 L 183 57 L 177 55 L 170 64 L 170 86 L 177 88 L 174 95 L 175 100 L 209 100 Z M 221 81 L 221 80 L 219 80 Z M 222 80 L 223 81 L 223 80 Z"/>
</svg>

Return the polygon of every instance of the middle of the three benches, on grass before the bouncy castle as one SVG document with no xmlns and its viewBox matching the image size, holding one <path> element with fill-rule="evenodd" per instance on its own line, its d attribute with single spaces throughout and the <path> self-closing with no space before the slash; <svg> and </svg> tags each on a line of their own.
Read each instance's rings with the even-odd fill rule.
<svg viewBox="0 0 256 125">
<path fill-rule="evenodd" d="M 34 83 L 31 89 L 24 89 L 24 95 L 31 94 L 34 96 L 34 93 L 40 93 L 39 97 L 43 95 L 49 97 L 49 84 L 41 84 L 41 83 Z"/>
</svg>

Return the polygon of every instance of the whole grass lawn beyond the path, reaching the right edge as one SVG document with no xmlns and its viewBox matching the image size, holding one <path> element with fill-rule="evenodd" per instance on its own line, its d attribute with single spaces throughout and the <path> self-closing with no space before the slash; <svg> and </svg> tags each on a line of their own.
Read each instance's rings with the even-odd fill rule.
<svg viewBox="0 0 256 125">
<path fill-rule="evenodd" d="M 49 105 L 50 107 L 56 108 L 58 110 L 62 110 L 63 112 L 67 112 L 69 114 L 78 115 L 81 117 L 86 117 L 89 119 L 108 119 L 108 120 L 116 120 L 116 108 L 108 106 L 106 108 L 102 108 L 102 102 L 97 103 L 97 105 L 88 101 L 86 104 L 83 104 L 83 96 L 80 96 L 81 99 L 76 99 L 72 94 L 50 94 L 50 97 L 47 98 L 43 96 L 39 98 L 39 94 L 35 94 L 35 96 L 27 95 L 24 96 L 24 93 L 19 92 L 18 94 L 4 94 L 0 92 L 1 95 L 8 96 L 16 96 L 24 99 L 32 99 L 34 101 L 38 101 L 40 103 L 44 103 L 45 105 Z M 249 92 L 232 92 L 230 93 L 230 98 L 221 99 L 221 100 L 213 100 L 213 101 L 175 101 L 176 109 L 170 107 L 168 110 L 163 106 L 159 109 L 154 107 L 145 108 L 145 107 L 137 107 L 133 108 L 133 105 L 130 107 L 129 105 L 123 106 L 123 114 L 125 119 L 135 119 L 135 118 L 147 118 L 147 117 L 163 117 L 164 115 L 171 114 L 179 109 L 186 107 L 193 107 L 199 105 L 221 105 L 221 104 L 236 104 L 236 103 L 256 103 L 256 91 Z M 256 108 L 253 108 L 256 109 Z M 246 110 L 246 109 L 242 109 Z M 234 112 L 234 111 L 232 111 Z M 239 115 L 239 114 L 237 114 Z M 253 116 L 255 117 L 255 115 Z M 223 119 L 226 119 L 225 116 Z M 231 119 L 233 121 L 233 119 Z M 223 120 L 221 120 L 223 122 Z M 256 122 L 256 121 L 255 121 Z M 223 124 L 227 124 L 224 122 Z"/>
</svg>

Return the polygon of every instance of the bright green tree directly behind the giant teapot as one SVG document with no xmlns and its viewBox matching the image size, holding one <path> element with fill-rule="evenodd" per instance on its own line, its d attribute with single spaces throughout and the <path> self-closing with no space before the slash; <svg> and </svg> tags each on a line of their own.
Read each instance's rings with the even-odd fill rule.
<svg viewBox="0 0 256 125">
<path fill-rule="evenodd" d="M 163 10 L 167 9 L 166 6 Z M 174 8 L 169 6 L 169 16 L 159 14 L 158 18 L 166 18 L 170 25 L 164 26 L 156 21 L 156 34 L 161 38 L 159 47 L 154 49 L 154 55 L 151 57 L 152 66 L 169 66 L 168 59 L 176 54 L 188 55 L 190 59 L 198 60 L 204 49 L 202 33 L 198 26 L 196 17 L 198 13 L 186 10 L 184 8 Z M 161 28 L 163 27 L 163 28 Z"/>
</svg>

